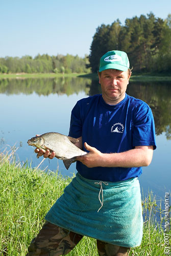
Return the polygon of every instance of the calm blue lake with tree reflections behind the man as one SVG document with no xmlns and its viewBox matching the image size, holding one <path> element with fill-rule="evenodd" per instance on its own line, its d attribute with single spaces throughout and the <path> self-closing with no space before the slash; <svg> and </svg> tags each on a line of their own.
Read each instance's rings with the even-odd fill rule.
<svg viewBox="0 0 171 256">
<path fill-rule="evenodd" d="M 59 132 L 67 135 L 70 112 L 77 100 L 101 93 L 97 80 L 86 78 L 11 79 L 0 80 L 0 149 L 15 144 L 16 158 L 32 167 L 43 158 L 36 158 L 27 140 L 36 134 Z M 170 190 L 171 165 L 171 84 L 130 82 L 127 93 L 147 102 L 155 117 L 157 150 L 152 163 L 143 167 L 139 178 L 144 194 L 153 191 L 163 198 Z M 41 169 L 56 171 L 63 176 L 76 173 L 76 164 L 66 170 L 58 159 L 45 159 Z"/>
</svg>

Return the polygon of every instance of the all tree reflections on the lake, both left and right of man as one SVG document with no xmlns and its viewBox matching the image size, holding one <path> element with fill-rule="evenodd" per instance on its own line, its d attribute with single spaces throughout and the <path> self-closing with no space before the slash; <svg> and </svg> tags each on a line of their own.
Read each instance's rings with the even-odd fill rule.
<svg viewBox="0 0 171 256">
<path fill-rule="evenodd" d="M 38 95 L 58 94 L 67 96 L 85 92 L 86 95 L 101 93 L 98 80 L 87 78 L 27 78 L 0 79 L 0 93 Z M 148 103 L 153 111 L 156 134 L 163 132 L 167 139 L 171 139 L 171 84 L 170 83 L 138 83 L 130 82 L 127 93 Z"/>
</svg>

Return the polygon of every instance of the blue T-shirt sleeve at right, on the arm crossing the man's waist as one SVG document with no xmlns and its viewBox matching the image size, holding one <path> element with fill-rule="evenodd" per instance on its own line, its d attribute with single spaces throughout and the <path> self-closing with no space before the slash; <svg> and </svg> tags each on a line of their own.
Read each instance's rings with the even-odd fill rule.
<svg viewBox="0 0 171 256">
<path fill-rule="evenodd" d="M 136 113 L 133 146 L 153 146 L 154 150 L 156 149 L 154 117 L 149 106 Z"/>
</svg>

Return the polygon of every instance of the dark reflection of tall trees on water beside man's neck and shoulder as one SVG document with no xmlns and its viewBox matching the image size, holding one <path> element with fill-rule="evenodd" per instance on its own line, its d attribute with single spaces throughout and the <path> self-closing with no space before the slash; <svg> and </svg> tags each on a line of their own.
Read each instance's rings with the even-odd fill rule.
<svg viewBox="0 0 171 256">
<path fill-rule="evenodd" d="M 89 95 L 101 93 L 97 80 L 92 80 Z M 127 93 L 130 96 L 148 103 L 153 111 L 156 135 L 163 132 L 168 140 L 171 139 L 171 84 L 170 83 L 139 83 L 130 82 Z"/>
</svg>

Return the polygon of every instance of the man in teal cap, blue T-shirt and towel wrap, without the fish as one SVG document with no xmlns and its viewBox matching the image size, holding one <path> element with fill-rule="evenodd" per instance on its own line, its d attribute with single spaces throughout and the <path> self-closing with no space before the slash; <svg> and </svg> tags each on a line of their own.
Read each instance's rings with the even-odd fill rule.
<svg viewBox="0 0 171 256">
<path fill-rule="evenodd" d="M 98 74 L 102 94 L 79 100 L 70 120 L 69 136 L 89 154 L 77 157 L 78 173 L 47 212 L 28 256 L 67 254 L 83 236 L 96 239 L 101 256 L 128 255 L 141 244 L 138 177 L 156 148 L 153 114 L 148 104 L 126 94 L 131 70 L 125 52 L 103 55 Z"/>
</svg>

